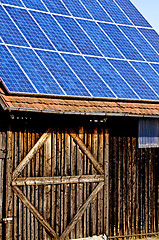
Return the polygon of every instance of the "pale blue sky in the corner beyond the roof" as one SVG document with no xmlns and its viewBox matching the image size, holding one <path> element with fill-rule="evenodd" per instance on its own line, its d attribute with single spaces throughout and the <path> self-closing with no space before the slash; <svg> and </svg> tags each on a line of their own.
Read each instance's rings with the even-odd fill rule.
<svg viewBox="0 0 159 240">
<path fill-rule="evenodd" d="M 159 0 L 131 0 L 131 2 L 159 33 Z"/>
</svg>

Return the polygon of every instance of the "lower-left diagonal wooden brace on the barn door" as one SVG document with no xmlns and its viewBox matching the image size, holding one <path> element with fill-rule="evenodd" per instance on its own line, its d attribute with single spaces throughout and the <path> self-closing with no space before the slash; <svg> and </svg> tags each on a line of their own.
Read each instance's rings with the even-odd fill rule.
<svg viewBox="0 0 159 240">
<path fill-rule="evenodd" d="M 48 231 L 49 234 L 53 238 L 59 239 L 57 234 L 55 233 L 55 231 L 45 221 L 45 219 L 40 215 L 40 213 L 36 210 L 36 208 L 28 201 L 28 199 L 24 196 L 22 191 L 16 186 L 14 186 L 12 189 L 17 194 L 17 196 L 20 198 L 20 200 L 23 202 L 23 204 L 25 204 L 25 206 L 33 213 L 33 215 L 36 217 L 36 219 L 42 224 L 42 226 L 46 229 L 46 231 Z"/>
</svg>

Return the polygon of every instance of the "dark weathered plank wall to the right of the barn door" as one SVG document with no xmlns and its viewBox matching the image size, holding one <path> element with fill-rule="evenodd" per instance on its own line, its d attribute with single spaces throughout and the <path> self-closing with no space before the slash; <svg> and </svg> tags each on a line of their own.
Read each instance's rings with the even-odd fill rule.
<svg viewBox="0 0 159 240">
<path fill-rule="evenodd" d="M 110 235 L 159 231 L 159 149 L 139 149 L 137 138 L 110 137 Z"/>
</svg>

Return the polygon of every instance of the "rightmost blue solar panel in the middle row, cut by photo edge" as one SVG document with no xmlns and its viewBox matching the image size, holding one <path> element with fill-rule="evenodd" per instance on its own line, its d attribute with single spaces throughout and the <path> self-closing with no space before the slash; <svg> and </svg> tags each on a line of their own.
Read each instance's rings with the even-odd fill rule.
<svg viewBox="0 0 159 240">
<path fill-rule="evenodd" d="M 157 32 L 147 28 L 139 28 L 139 30 L 159 53 L 159 35 Z"/>
</svg>

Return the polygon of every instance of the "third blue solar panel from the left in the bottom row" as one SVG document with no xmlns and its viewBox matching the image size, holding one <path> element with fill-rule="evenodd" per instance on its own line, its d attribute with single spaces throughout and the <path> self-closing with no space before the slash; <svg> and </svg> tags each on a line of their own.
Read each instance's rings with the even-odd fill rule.
<svg viewBox="0 0 159 240">
<path fill-rule="evenodd" d="M 60 83 L 67 95 L 90 96 L 86 88 L 58 53 L 37 51 L 37 54 Z"/>
</svg>

